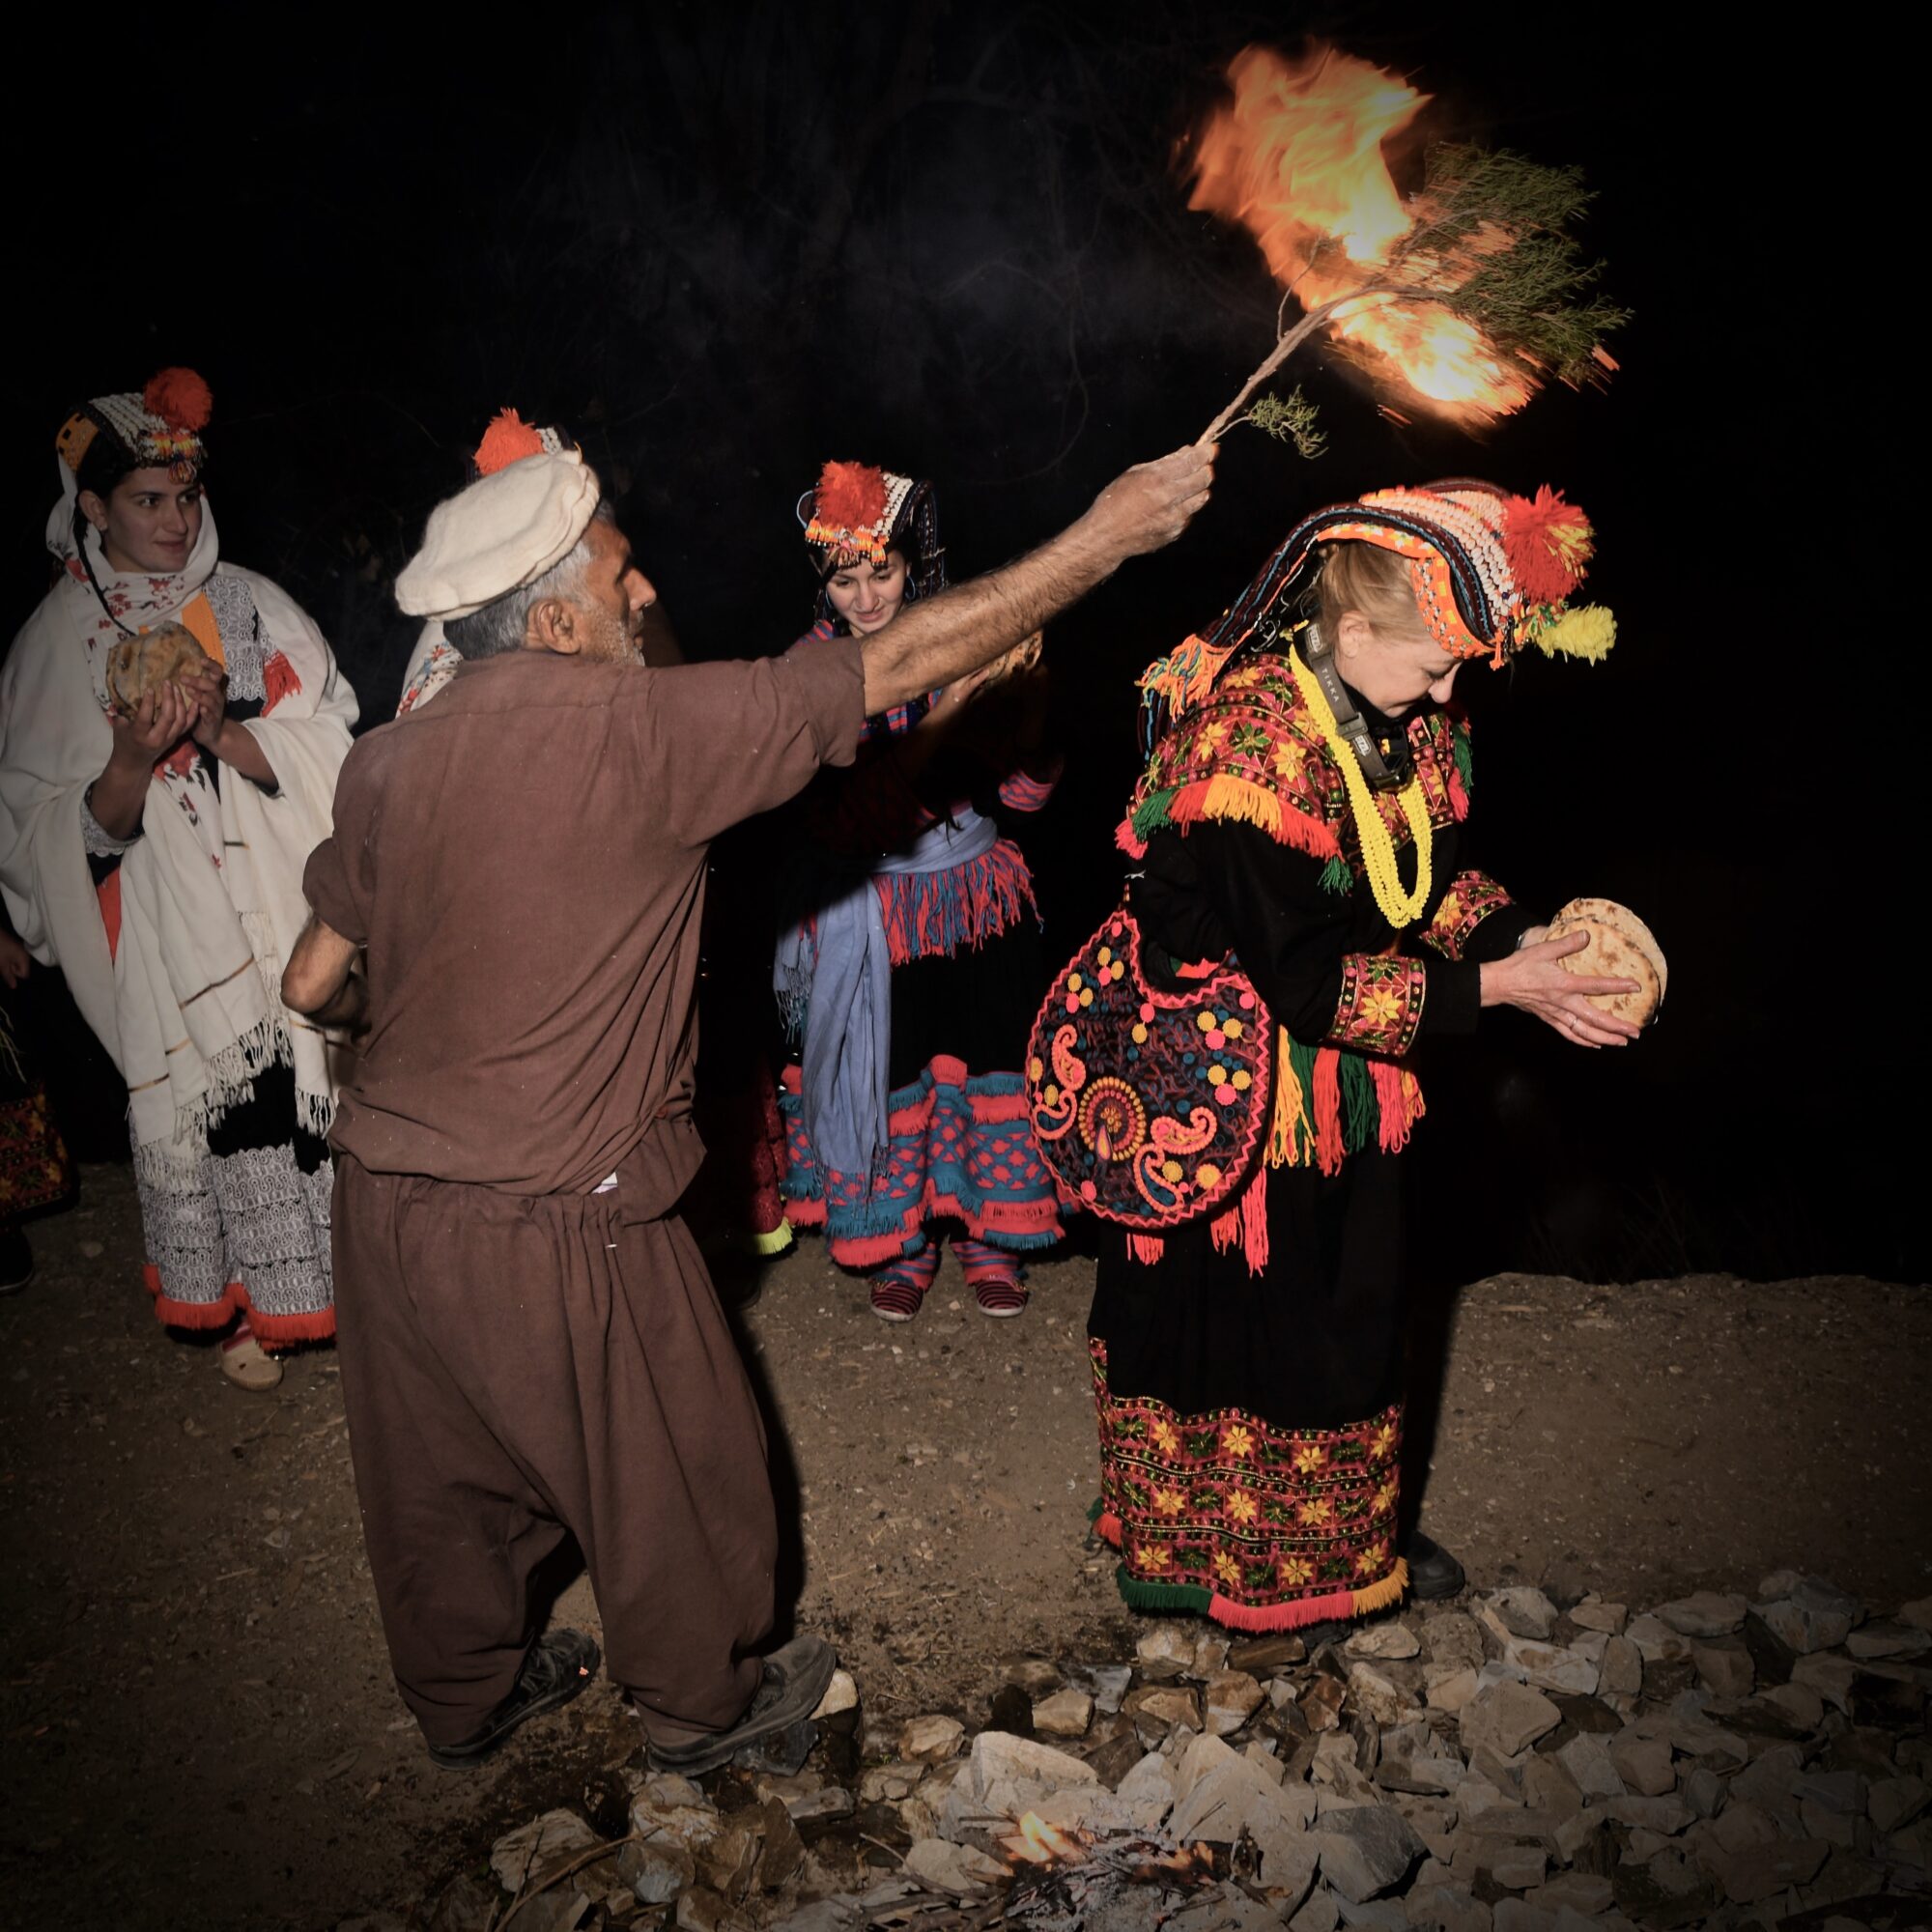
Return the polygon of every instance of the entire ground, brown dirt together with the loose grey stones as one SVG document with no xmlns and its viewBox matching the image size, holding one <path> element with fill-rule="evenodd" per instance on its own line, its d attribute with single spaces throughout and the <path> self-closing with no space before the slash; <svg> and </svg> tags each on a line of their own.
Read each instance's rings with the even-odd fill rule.
<svg viewBox="0 0 1932 1932">
<path fill-rule="evenodd" d="M 495 1915 L 500 1928 L 518 1893 L 491 1874 L 493 1847 L 556 1810 L 574 1814 L 570 1830 L 583 1833 L 583 1870 L 607 1880 L 603 1866 L 616 1855 L 597 1847 L 630 1835 L 634 1806 L 678 1808 L 688 1799 L 638 1781 L 638 1741 L 618 1698 L 597 1687 L 471 1777 L 431 1770 L 394 1696 L 373 1617 L 332 1358 L 327 1350 L 294 1358 L 272 1397 L 230 1389 L 207 1349 L 155 1327 L 131 1285 L 139 1235 L 126 1173 L 89 1169 L 85 1180 L 79 1209 L 35 1229 L 41 1279 L 0 1308 L 10 1364 L 0 1374 L 8 1549 L 0 1886 L 10 1920 L 255 1932 L 334 1928 L 371 1913 L 427 1924 L 440 1911 L 444 1932 L 466 1932 L 460 1915 L 473 1907 L 477 1926 Z M 692 1872 L 680 1878 L 676 1905 L 670 1893 L 641 1901 L 622 1872 L 601 1889 L 566 1876 L 535 1891 L 531 1876 L 551 1876 L 547 1851 L 526 1859 L 529 1870 L 512 1862 L 514 1851 L 500 1853 L 498 1864 L 524 1886 L 512 1932 L 649 1926 L 680 1913 L 690 1924 L 705 1911 L 773 1922 L 800 1909 L 817 1911 L 819 1924 L 852 1924 L 850 1913 L 864 1911 L 875 1922 L 923 1918 L 937 1928 L 941 1909 L 960 1924 L 997 1924 L 1014 1899 L 1037 1913 L 1012 1922 L 1072 1924 L 1063 1907 L 1080 1864 L 1043 1868 L 1045 1888 L 1028 1880 L 1032 1891 L 1022 1884 L 1009 1897 L 1010 1855 L 999 1833 L 974 1841 L 972 1832 L 941 1832 L 941 1785 L 968 1779 L 964 1789 L 983 1799 L 999 1783 L 989 1754 L 1007 1747 L 997 1739 L 1034 1723 L 1034 1706 L 1068 1689 L 1094 1698 L 1086 1727 L 1055 1733 L 1055 1716 L 1041 1712 L 1039 1731 L 1088 1776 L 1055 1764 L 1036 1777 L 1041 1791 L 1092 1783 L 1109 1804 L 1138 1793 L 1132 1830 L 1167 1857 L 1202 1822 L 1186 1808 L 1202 1779 L 1219 1772 L 1256 1791 L 1256 1779 L 1265 1781 L 1308 1841 L 1300 1849 L 1314 1855 L 1294 1915 L 1320 1915 L 1331 1899 L 1339 1922 L 1395 1924 L 1395 1897 L 1403 1922 L 1424 1922 L 1406 1917 L 1408 1905 L 1439 1891 L 1470 1915 L 1457 1924 L 1540 1926 L 1544 1918 L 1520 1913 L 1542 1913 L 1546 1903 L 1567 1913 L 1600 1905 L 1600 1922 L 1609 1913 L 1654 1926 L 1723 1913 L 1768 1922 L 1793 1899 L 1808 1911 L 1804 1888 L 1855 1876 L 1862 1884 L 1872 1872 L 1874 1889 L 1911 1882 L 1920 1826 L 1895 1806 L 1911 1797 L 1911 1779 L 1926 1776 L 1913 1702 L 1922 1700 L 1924 1660 L 1913 1636 L 1899 1636 L 1903 1648 L 1891 1656 L 1845 1646 L 1870 1644 L 1874 1625 L 1884 1638 L 1899 1607 L 1928 1590 L 1922 1379 L 1932 1298 L 1924 1291 L 1723 1277 L 1596 1289 L 1517 1275 L 1464 1289 L 1437 1323 L 1441 1401 L 1434 1422 L 1422 1418 L 1420 1437 L 1432 1463 L 1426 1520 L 1463 1553 L 1480 1596 L 1432 1619 L 1406 1615 L 1401 1627 L 1416 1644 L 1408 1656 L 1341 1650 L 1246 1663 L 1229 1656 L 1215 1665 L 1190 1652 L 1182 1667 L 1177 1656 L 1144 1652 L 1157 1633 L 1121 1607 L 1113 1561 L 1086 1534 L 1094 1441 L 1082 1318 L 1092 1267 L 1066 1260 L 1041 1267 L 1036 1283 L 1024 1320 L 991 1323 L 974 1312 L 949 1262 L 920 1321 L 889 1331 L 817 1246 L 765 1271 L 744 1331 L 775 1441 L 784 1445 L 788 1584 L 798 1623 L 838 1642 L 858 1704 L 831 1719 L 802 1783 L 771 1785 L 767 1772 L 759 1791 L 759 1774 L 734 1770 L 684 1804 L 696 1814 L 686 1820 Z M 1741 1605 L 1797 1604 L 1797 1582 L 1774 1590 L 1766 1580 L 1781 1567 L 1833 1578 L 1862 1617 L 1816 1650 L 1779 1638 L 1793 1648 L 1797 1690 L 1777 1677 L 1781 1652 L 1768 1652 L 1766 1663 L 1748 1646 L 1743 1607 L 1735 1631 L 1698 1636 L 1667 1619 L 1656 1634 L 1640 1615 L 1698 1590 Z M 1509 1625 L 1505 1602 L 1526 1598 L 1501 1592 L 1530 1586 L 1559 1619 L 1548 1638 Z M 1623 1631 L 1605 1627 L 1613 1605 L 1629 1605 Z M 582 1582 L 564 1590 L 558 1613 L 595 1629 Z M 1441 1615 L 1461 1623 L 1437 1629 Z M 1768 1615 L 1760 1621 L 1770 1625 Z M 1443 1638 L 1451 1629 L 1461 1634 Z M 1646 1633 L 1656 1658 L 1638 1642 Z M 1401 1642 L 1376 1638 L 1389 1640 Z M 1443 1640 L 1459 1648 L 1445 1652 Z M 1540 1642 L 1580 1658 L 1561 1665 L 1571 1673 L 1565 1683 L 1532 1673 L 1520 1646 Z M 1702 1663 L 1675 1654 L 1692 1642 L 1710 1654 Z M 1623 1689 L 1625 1679 L 1602 1681 L 1617 1644 L 1638 1652 L 1636 1690 Z M 1625 1660 L 1621 1648 L 1615 1656 Z M 1752 1671 L 1748 1687 L 1739 1656 Z M 1449 1662 L 1478 1679 L 1463 1708 L 1441 1702 L 1457 1692 L 1432 1675 Z M 1586 1667 L 1598 1671 L 1588 1690 Z M 1252 1679 L 1260 1698 L 1225 1735 L 1208 1708 L 1198 1719 L 1184 1704 L 1150 1710 L 1146 1698 L 1132 1710 L 1105 1708 L 1111 1685 L 1122 1698 L 1211 1704 L 1225 1694 L 1213 1681 L 1227 1669 Z M 1124 1685 L 1121 1671 L 1132 1671 Z M 1700 1671 L 1727 1675 L 1710 1683 Z M 1009 1683 L 1014 1673 L 1018 1685 Z M 1878 1690 L 1880 1681 L 1905 1689 Z M 1325 1685 L 1341 1702 L 1337 1723 L 1321 1729 L 1308 1700 L 1320 1692 L 1320 1708 L 1333 1696 Z M 991 1700 L 1003 1690 L 1018 1690 L 1026 1704 L 1022 1723 L 1005 1698 L 1005 1733 L 989 1729 Z M 1478 1750 L 1470 1710 L 1488 1708 L 1486 1698 L 1513 1702 L 1509 1692 L 1546 1700 L 1555 1723 L 1528 1741 L 1484 1737 Z M 1816 1698 L 1814 1721 L 1799 1692 Z M 1563 1700 L 1580 1702 L 1571 1710 Z M 1793 1700 L 1799 1710 L 1785 1708 Z M 1590 1710 L 1578 1718 L 1584 1702 Z M 902 1733 L 914 1719 L 951 1719 L 958 1731 L 922 1733 L 923 1754 L 908 1752 Z M 941 1735 L 947 1745 L 927 1764 Z M 1621 1797 L 1578 1739 L 1598 1739 L 1609 1752 Z M 1519 1748 L 1505 1748 L 1511 1743 Z M 1246 1772 L 1225 1772 L 1223 1745 Z M 1617 1766 L 1619 1750 L 1631 1758 L 1638 1747 L 1648 1748 L 1633 1762 L 1646 1764 L 1642 1777 L 1660 1789 Z M 1140 1783 L 1121 1793 L 1150 1748 L 1173 1779 L 1161 1820 L 1150 1808 L 1165 1774 L 1140 1772 Z M 1445 1768 L 1451 1758 L 1459 1774 Z M 1399 1774 L 1389 1766 L 1416 1760 L 1443 1766 L 1422 1777 L 1455 1785 L 1408 1791 L 1391 1781 Z M 1584 1770 L 1604 1789 L 1584 1783 L 1571 1760 L 1588 1760 Z M 918 1770 L 908 1774 L 906 1764 Z M 1559 1772 L 1582 1801 L 1571 1810 Z M 1814 1791 L 1808 1781 L 1820 1777 L 1837 1783 Z M 1710 1779 L 1721 1783 L 1714 1812 L 1700 1808 L 1712 1799 Z M 1741 1795 L 1743 1779 L 1762 1789 L 1745 1785 Z M 1323 1855 L 1316 1839 L 1393 1830 L 1329 1822 L 1368 1812 L 1366 1793 L 1374 1814 L 1401 1820 L 1422 1851 L 1389 1839 L 1410 1855 L 1399 1891 L 1354 1899 L 1333 1882 L 1349 1853 Z M 1455 1822 L 1426 1814 L 1424 1799 L 1455 1812 Z M 1617 1806 L 1638 1810 L 1625 1818 Z M 1526 1835 L 1507 1839 L 1520 1857 L 1505 1859 L 1501 1874 L 1493 1851 L 1505 1841 L 1482 1824 L 1499 1808 L 1530 1818 Z M 1745 1851 L 1801 1847 L 1789 1868 L 1777 1868 L 1787 1872 L 1781 1889 L 1745 1901 L 1729 1889 L 1725 1872 L 1735 1872 L 1739 1847 L 1718 1832 L 1733 1812 L 1729 1832 L 1760 1833 Z M 1094 1839 L 1086 1862 L 1124 1857 L 1119 1816 L 1103 1806 L 1086 1822 Z M 1265 1810 L 1254 1816 L 1269 1828 Z M 1588 1830 L 1577 1822 L 1586 1816 Z M 732 1832 L 713 1830 L 711 1820 L 730 1820 Z M 1281 1870 L 1269 1870 L 1252 1818 L 1246 1833 L 1217 1837 L 1229 1822 L 1208 1818 L 1194 1837 L 1208 1851 L 1190 1855 L 1188 1886 L 1169 1903 L 1265 1909 L 1267 1922 L 1279 1922 L 1281 1893 L 1293 1884 L 1275 1884 Z M 949 1849 L 914 1857 L 922 1843 Z M 1719 1861 L 1721 1870 L 1706 1857 L 1712 1843 L 1731 1859 Z M 1801 1872 L 1818 1843 L 1820 1862 Z M 1633 1845 L 1650 1857 L 1629 1859 Z M 1528 1874 L 1536 1853 L 1538 1882 L 1505 1886 L 1505 1876 Z M 972 1889 L 989 1872 L 968 1855 L 997 1859 L 997 1888 Z M 1922 1868 L 1922 1849 L 1918 1861 Z M 1627 1864 L 1656 1866 L 1662 1889 L 1636 1897 L 1629 1876 L 1619 1889 Z M 1685 1878 L 1681 1897 L 1662 1886 L 1665 1872 Z M 1538 1899 L 1559 1876 L 1567 1889 Z M 1607 1897 L 1582 1884 L 1590 1878 L 1609 1882 Z M 464 1886 L 452 1893 L 458 1880 Z M 1169 1897 L 1165 1882 L 1124 1884 Z M 829 1903 L 879 1886 L 918 1889 L 864 1907 Z M 1229 1886 L 1246 1903 L 1227 1903 Z M 811 1905 L 811 1889 L 825 1901 Z M 618 1893 L 632 1905 L 612 1913 Z M 576 1897 L 578 1918 L 560 1917 Z M 844 1920 L 825 1917 L 840 1911 Z"/>
</svg>

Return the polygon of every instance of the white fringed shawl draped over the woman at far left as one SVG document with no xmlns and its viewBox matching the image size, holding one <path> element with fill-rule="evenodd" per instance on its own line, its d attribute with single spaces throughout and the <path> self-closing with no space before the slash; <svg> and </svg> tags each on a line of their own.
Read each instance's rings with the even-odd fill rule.
<svg viewBox="0 0 1932 1932">
<path fill-rule="evenodd" d="M 230 694 L 261 697 L 263 715 L 243 728 L 278 781 L 269 792 L 224 771 L 216 792 L 191 740 L 155 767 L 141 835 L 120 866 L 120 941 L 110 954 L 87 867 L 83 798 L 112 752 L 106 655 L 124 632 L 102 611 L 71 539 L 54 541 L 54 526 L 62 580 L 0 668 L 0 891 L 21 939 L 66 974 L 128 1082 L 137 1171 L 151 1184 L 182 1186 L 209 1124 L 247 1097 L 265 1066 L 294 1068 L 298 1119 L 311 1132 L 327 1132 L 334 1115 L 330 1041 L 282 1005 L 280 980 L 307 918 L 301 869 L 330 831 L 355 694 L 290 597 L 267 578 L 216 564 L 205 506 L 195 551 L 174 576 L 118 574 L 87 533 L 100 589 L 128 628 L 153 628 L 209 599 Z"/>
</svg>

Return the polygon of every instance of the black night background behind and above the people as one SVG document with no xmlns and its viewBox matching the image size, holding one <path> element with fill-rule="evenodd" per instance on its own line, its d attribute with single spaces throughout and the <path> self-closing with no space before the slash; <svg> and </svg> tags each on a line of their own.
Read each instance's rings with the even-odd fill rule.
<svg viewBox="0 0 1932 1932">
<path fill-rule="evenodd" d="M 1845 545 L 1808 541 L 1837 402 L 1797 400 L 1793 359 L 1833 396 L 1859 348 L 1799 319 L 1804 189 L 1768 158 L 1774 126 L 1785 158 L 1833 156 L 1857 110 L 1830 60 L 1687 43 L 1679 17 L 214 8 L 156 37 L 68 14 L 17 48 L 6 133 L 8 626 L 46 583 L 66 412 L 166 363 L 216 396 L 224 554 L 315 614 L 365 726 L 412 638 L 390 578 L 500 404 L 576 431 L 692 655 L 804 628 L 792 504 L 827 456 L 935 477 L 954 574 L 995 564 L 1194 437 L 1265 352 L 1260 255 L 1186 213 L 1173 155 L 1244 43 L 1333 39 L 1432 93 L 1428 133 L 1586 170 L 1586 243 L 1634 309 L 1623 367 L 1478 444 L 1300 361 L 1329 454 L 1233 435 L 1194 529 L 1051 632 L 1074 759 L 1032 846 L 1049 945 L 1117 889 L 1134 674 L 1298 514 L 1443 473 L 1555 481 L 1598 524 L 1621 641 L 1604 667 L 1466 674 L 1486 854 L 1546 908 L 1633 904 L 1671 1001 L 1631 1053 L 1497 1020 L 1445 1057 L 1420 1136 L 1435 1258 L 1924 1279 L 1893 1059 L 1918 1016 L 1903 966 L 1868 985 L 1853 951 L 1909 920 L 1880 889 L 1903 838 L 1872 831 L 1909 821 L 1872 817 L 1808 657 Z M 97 68 L 81 41 L 114 35 Z"/>
</svg>

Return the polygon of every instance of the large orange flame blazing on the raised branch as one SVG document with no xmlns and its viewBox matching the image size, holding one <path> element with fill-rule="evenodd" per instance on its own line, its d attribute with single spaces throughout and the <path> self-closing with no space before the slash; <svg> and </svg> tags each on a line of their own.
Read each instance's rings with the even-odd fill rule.
<svg viewBox="0 0 1932 1932">
<path fill-rule="evenodd" d="M 1188 207 L 1242 222 L 1304 311 L 1370 288 L 1428 213 L 1420 197 L 1397 191 L 1383 151 L 1430 97 L 1325 46 L 1304 60 L 1250 46 L 1227 73 L 1235 99 L 1194 145 Z M 1457 259 L 1410 257 L 1403 282 L 1449 294 L 1482 255 L 1513 242 L 1488 228 L 1461 243 Z M 1364 294 L 1329 327 L 1383 383 L 1439 412 L 1507 415 L 1530 400 L 1520 369 L 1439 303 Z"/>
</svg>

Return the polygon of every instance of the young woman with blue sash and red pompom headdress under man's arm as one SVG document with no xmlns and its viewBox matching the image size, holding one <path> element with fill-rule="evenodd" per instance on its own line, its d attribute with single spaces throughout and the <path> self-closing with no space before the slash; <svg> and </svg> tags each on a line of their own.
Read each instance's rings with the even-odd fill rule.
<svg viewBox="0 0 1932 1932">
<path fill-rule="evenodd" d="M 800 502 L 815 632 L 869 636 L 947 583 L 929 483 L 827 464 Z M 910 1321 L 952 1240 L 983 1314 L 1026 1306 L 1059 1240 L 1018 1055 L 1039 985 L 1032 873 L 1007 829 L 1053 794 L 1039 641 L 875 717 L 810 802 L 811 862 L 779 949 L 786 1215 Z"/>
</svg>

